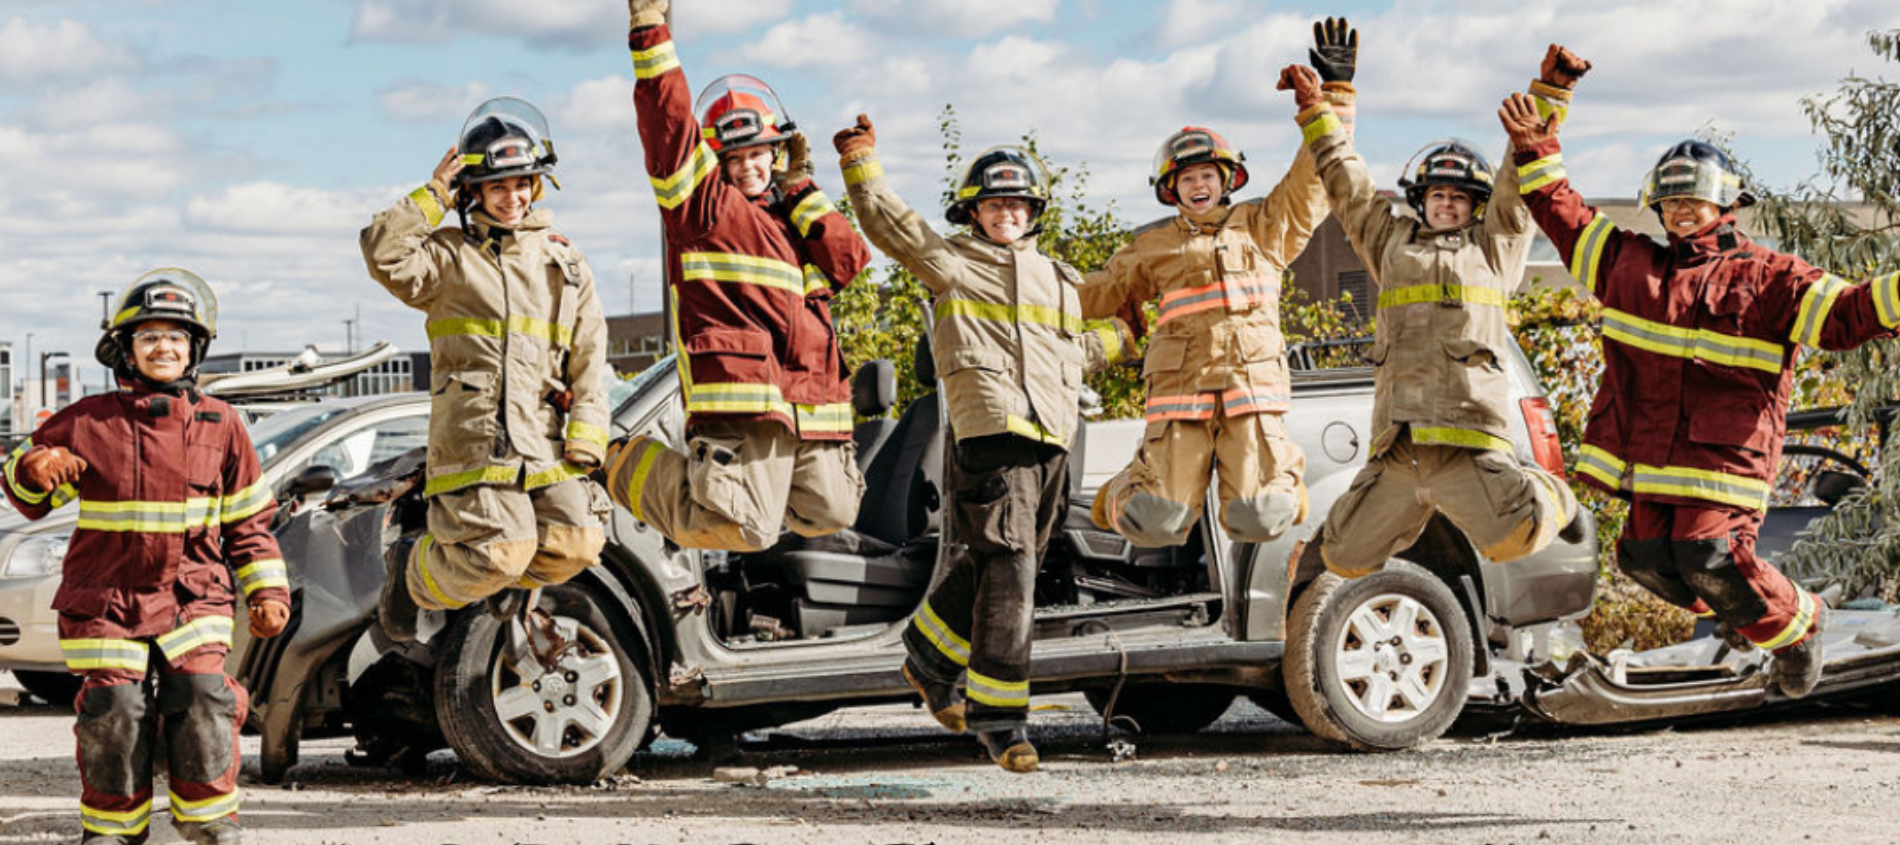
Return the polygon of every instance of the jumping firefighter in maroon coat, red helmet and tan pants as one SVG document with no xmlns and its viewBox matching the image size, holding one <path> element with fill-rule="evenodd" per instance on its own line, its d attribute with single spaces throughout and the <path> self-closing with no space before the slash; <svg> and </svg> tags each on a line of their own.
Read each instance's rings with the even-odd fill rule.
<svg viewBox="0 0 1900 845">
<path fill-rule="evenodd" d="M 686 454 L 635 437 L 608 492 L 682 547 L 754 551 L 851 524 L 864 490 L 830 296 L 870 247 L 811 182 L 777 97 L 728 76 L 688 103 L 665 0 L 631 0 L 633 104 L 667 230 Z"/>
</svg>

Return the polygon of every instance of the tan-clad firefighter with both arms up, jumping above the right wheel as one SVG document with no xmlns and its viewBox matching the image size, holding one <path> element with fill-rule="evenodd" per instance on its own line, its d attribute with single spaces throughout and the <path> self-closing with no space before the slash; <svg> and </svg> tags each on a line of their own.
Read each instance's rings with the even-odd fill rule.
<svg viewBox="0 0 1900 845">
<path fill-rule="evenodd" d="M 1550 46 L 1531 93 L 1560 123 L 1588 63 Z M 1550 473 L 1516 461 L 1510 389 L 1499 365 L 1514 340 L 1507 302 L 1530 253 L 1530 209 L 1514 167 L 1469 144 L 1427 144 L 1406 169 L 1417 218 L 1379 196 L 1364 160 L 1320 97 L 1313 70 L 1288 66 L 1307 148 L 1332 211 L 1379 287 L 1372 344 L 1372 456 L 1326 515 L 1326 568 L 1378 572 L 1444 513 L 1493 562 L 1531 554 L 1571 524 L 1577 498 Z M 1507 154 L 1509 160 L 1509 154 Z"/>
</svg>

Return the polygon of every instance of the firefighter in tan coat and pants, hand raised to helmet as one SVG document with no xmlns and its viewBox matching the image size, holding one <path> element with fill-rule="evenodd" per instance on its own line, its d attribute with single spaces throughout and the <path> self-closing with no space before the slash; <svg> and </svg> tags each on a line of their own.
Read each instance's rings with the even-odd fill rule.
<svg viewBox="0 0 1900 845">
<path fill-rule="evenodd" d="M 496 99 L 363 230 L 369 273 L 429 315 L 429 532 L 390 549 L 382 625 L 564 583 L 600 558 L 606 323 L 581 253 L 534 209 L 555 163 L 534 106 Z M 454 209 L 462 226 L 437 228 Z"/>
</svg>

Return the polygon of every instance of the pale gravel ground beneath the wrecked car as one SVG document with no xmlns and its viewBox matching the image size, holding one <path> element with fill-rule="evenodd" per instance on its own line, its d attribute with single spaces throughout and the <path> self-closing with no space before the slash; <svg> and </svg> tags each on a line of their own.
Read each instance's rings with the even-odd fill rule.
<svg viewBox="0 0 1900 845">
<path fill-rule="evenodd" d="M 1465 727 L 1368 756 L 1241 701 L 1201 735 L 1138 739 L 1113 761 L 1081 697 L 1049 697 L 1034 720 L 1043 771 L 1026 777 L 916 708 L 878 706 L 749 735 L 718 763 L 781 769 L 764 786 L 714 780 L 673 741 L 591 788 L 467 782 L 445 752 L 416 779 L 355 769 L 348 741 L 315 741 L 266 786 L 247 739 L 243 820 L 253 843 L 352 845 L 1892 843 L 1892 704 L 1649 731 Z M 0 706 L 0 845 L 76 841 L 78 790 L 70 710 Z M 179 841 L 162 813 L 152 834 Z"/>
</svg>

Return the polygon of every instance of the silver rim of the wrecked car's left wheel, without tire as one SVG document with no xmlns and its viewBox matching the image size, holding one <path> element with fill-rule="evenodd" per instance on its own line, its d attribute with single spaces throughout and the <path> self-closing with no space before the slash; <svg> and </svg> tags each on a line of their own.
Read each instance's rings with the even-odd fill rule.
<svg viewBox="0 0 1900 845">
<path fill-rule="evenodd" d="M 557 617 L 562 621 L 562 617 Z M 598 746 L 625 706 L 625 684 L 614 648 L 576 625 L 574 648 L 553 672 L 528 678 L 496 649 L 488 691 L 502 733 L 542 758 L 572 758 Z"/>
</svg>

